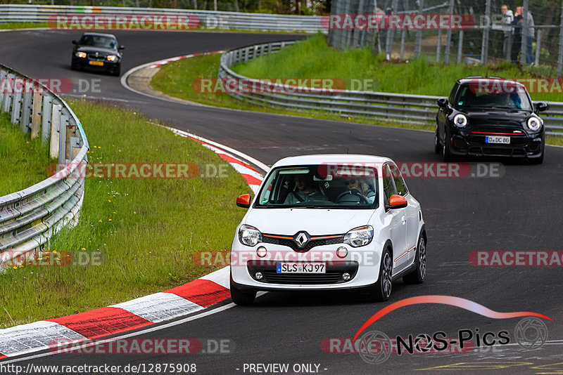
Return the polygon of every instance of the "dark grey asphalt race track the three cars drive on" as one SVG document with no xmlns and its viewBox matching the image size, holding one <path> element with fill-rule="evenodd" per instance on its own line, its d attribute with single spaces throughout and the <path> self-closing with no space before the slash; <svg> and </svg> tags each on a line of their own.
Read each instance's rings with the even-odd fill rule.
<svg viewBox="0 0 563 375">
<path fill-rule="evenodd" d="M 287 34 L 213 32 L 116 34 L 120 44 L 126 46 L 122 73 L 176 55 L 296 38 Z M 70 41 L 79 35 L 61 31 L 0 32 L 0 62 L 30 77 L 69 77 L 75 82 L 79 78 L 101 79 L 101 92 L 88 96 L 141 108 L 148 117 L 234 147 L 265 164 L 289 155 L 346 152 L 348 138 L 350 153 L 385 155 L 396 162 L 441 162 L 434 154 L 431 132 L 182 105 L 138 95 L 122 87 L 118 77 L 70 70 Z M 469 263 L 469 254 L 483 250 L 563 250 L 563 148 L 546 147 L 545 162 L 540 166 L 510 163 L 502 170 L 502 176 L 496 178 L 407 179 L 410 191 L 422 204 L 426 221 L 426 282 L 405 285 L 396 281 L 388 303 L 369 303 L 362 296 L 346 293 L 268 293 L 250 307 L 234 306 L 138 336 L 229 339 L 232 353 L 153 357 L 62 354 L 18 363 L 196 363 L 198 374 L 248 374 L 244 364 L 257 363 L 288 363 L 289 374 L 293 374 L 293 364 L 319 364 L 322 374 L 406 374 L 438 366 L 450 366 L 441 368 L 450 372 L 457 369 L 480 374 L 562 371 L 562 268 L 475 267 Z M 368 330 L 390 337 L 432 335 L 437 331 L 455 337 L 460 329 L 479 329 L 481 334 L 506 330 L 510 332 L 510 345 L 483 346 L 464 354 L 392 354 L 377 365 L 368 364 L 358 354 L 323 352 L 324 338 L 353 337 L 386 305 L 424 295 L 467 298 L 502 313 L 532 311 L 547 315 L 553 320 L 545 321 L 548 343 L 539 350 L 517 346 L 514 327 L 520 318 L 495 320 L 450 305 L 419 304 L 393 311 Z M 464 367 L 460 363 L 465 363 Z M 453 364 L 455 367 L 451 367 Z M 429 371 L 438 369 L 418 372 Z"/>
</svg>

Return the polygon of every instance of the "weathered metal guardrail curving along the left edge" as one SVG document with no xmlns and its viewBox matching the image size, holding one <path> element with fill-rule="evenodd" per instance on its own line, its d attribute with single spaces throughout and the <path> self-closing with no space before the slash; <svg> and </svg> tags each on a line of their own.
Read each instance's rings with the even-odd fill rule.
<svg viewBox="0 0 563 375">
<path fill-rule="evenodd" d="M 0 111 L 32 137 L 49 142 L 49 153 L 66 168 L 27 189 L 0 197 L 0 263 L 41 248 L 64 225 L 72 225 L 84 199 L 88 141 L 82 124 L 56 94 L 21 92 L 29 77 L 0 65 Z M 36 87 L 39 87 L 37 85 Z M 31 91 L 31 90 L 30 90 Z M 25 171 L 13 171 L 25 173 Z"/>
</svg>

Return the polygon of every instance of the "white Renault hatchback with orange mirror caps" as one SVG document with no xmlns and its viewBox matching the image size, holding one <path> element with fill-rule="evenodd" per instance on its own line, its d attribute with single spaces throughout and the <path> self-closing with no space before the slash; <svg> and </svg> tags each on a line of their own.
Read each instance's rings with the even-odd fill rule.
<svg viewBox="0 0 563 375">
<path fill-rule="evenodd" d="M 420 204 L 386 157 L 317 154 L 281 159 L 248 212 L 231 250 L 231 296 L 256 291 L 364 289 L 386 301 L 394 279 L 422 283 L 426 232 Z"/>
</svg>

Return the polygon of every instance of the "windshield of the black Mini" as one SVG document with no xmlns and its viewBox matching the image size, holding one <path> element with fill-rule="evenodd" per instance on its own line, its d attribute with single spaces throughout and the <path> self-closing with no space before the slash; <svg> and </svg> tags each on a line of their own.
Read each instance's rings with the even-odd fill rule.
<svg viewBox="0 0 563 375">
<path fill-rule="evenodd" d="M 514 86 L 516 87 L 516 86 Z M 455 107 L 488 107 L 531 111 L 531 103 L 523 87 L 510 91 L 475 89 L 470 84 L 457 91 Z"/>
</svg>

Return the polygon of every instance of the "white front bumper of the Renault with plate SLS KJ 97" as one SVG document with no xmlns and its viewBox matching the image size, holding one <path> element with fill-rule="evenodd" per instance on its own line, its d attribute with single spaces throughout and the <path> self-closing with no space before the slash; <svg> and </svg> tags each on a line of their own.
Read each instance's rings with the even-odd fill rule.
<svg viewBox="0 0 563 375">
<path fill-rule="evenodd" d="M 258 257 L 256 249 L 264 246 L 268 254 Z M 348 249 L 345 258 L 336 256 L 336 249 Z M 367 246 L 353 248 L 347 244 L 316 246 L 310 251 L 298 253 L 288 246 L 260 243 L 244 246 L 235 238 L 231 251 L 232 282 L 239 289 L 261 291 L 288 290 L 337 290 L 369 287 L 377 282 L 383 245 L 372 241 Z M 322 274 L 277 273 L 277 263 L 325 263 Z M 257 279 L 256 272 L 262 274 Z M 343 274 L 350 279 L 345 281 Z"/>
</svg>

